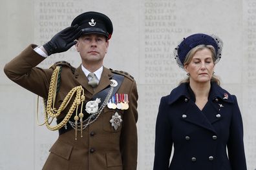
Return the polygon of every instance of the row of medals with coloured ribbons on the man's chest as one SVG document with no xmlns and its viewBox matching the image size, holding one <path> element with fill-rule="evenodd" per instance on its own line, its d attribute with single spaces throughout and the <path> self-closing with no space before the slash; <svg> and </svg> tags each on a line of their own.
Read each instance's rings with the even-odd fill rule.
<svg viewBox="0 0 256 170">
<path fill-rule="evenodd" d="M 116 93 L 112 95 L 109 100 L 107 107 L 109 109 L 128 109 L 129 108 L 129 99 L 128 94 Z"/>
</svg>

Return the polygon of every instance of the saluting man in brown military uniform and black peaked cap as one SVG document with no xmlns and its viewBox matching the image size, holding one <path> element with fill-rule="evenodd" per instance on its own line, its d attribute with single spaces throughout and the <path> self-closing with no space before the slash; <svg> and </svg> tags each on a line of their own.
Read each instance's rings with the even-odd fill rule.
<svg viewBox="0 0 256 170">
<path fill-rule="evenodd" d="M 103 66 L 111 35 L 109 17 L 85 12 L 43 46 L 31 44 L 6 64 L 8 78 L 45 99 L 45 124 L 59 131 L 43 169 L 136 169 L 136 82 Z M 67 62 L 36 67 L 73 45 L 81 56 L 78 68 Z"/>
</svg>

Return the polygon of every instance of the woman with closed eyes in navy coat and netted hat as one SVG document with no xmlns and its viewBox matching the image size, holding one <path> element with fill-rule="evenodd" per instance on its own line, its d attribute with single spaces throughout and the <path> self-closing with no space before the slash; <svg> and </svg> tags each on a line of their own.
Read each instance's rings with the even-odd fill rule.
<svg viewBox="0 0 256 170">
<path fill-rule="evenodd" d="M 161 99 L 154 170 L 246 170 L 237 98 L 213 75 L 221 51 L 222 41 L 203 33 L 175 48 L 178 66 L 188 77 Z"/>
</svg>

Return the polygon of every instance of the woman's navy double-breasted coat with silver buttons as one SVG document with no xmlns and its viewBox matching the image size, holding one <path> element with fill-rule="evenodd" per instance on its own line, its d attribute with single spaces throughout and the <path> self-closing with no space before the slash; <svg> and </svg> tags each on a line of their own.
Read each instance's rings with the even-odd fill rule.
<svg viewBox="0 0 256 170">
<path fill-rule="evenodd" d="M 189 91 L 187 83 L 180 84 L 160 101 L 154 170 L 246 170 L 242 117 L 235 95 L 211 83 L 201 111 Z"/>
</svg>

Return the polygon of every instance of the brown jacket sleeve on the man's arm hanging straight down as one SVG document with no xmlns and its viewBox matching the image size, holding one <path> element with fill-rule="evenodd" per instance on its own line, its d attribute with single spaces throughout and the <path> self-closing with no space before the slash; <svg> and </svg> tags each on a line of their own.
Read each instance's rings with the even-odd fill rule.
<svg viewBox="0 0 256 170">
<path fill-rule="evenodd" d="M 138 91 L 133 82 L 129 92 L 129 109 L 123 113 L 120 150 L 122 153 L 123 170 L 136 170 L 138 155 L 138 137 L 136 122 L 138 120 Z"/>
</svg>

